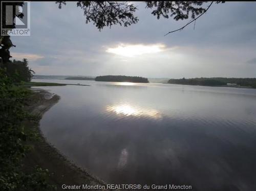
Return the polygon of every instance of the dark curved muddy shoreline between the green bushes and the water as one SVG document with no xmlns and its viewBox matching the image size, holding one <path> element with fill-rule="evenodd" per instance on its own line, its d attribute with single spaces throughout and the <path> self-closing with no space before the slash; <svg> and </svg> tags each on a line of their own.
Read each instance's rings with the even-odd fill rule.
<svg viewBox="0 0 256 191">
<path fill-rule="evenodd" d="M 35 166 L 48 169 L 49 183 L 57 186 L 57 190 L 63 190 L 62 185 L 105 185 L 106 183 L 96 176 L 88 173 L 85 169 L 69 161 L 65 156 L 49 142 L 40 130 L 40 120 L 46 111 L 54 106 L 60 99 L 57 94 L 44 89 L 30 89 L 32 94 L 29 98 L 29 106 L 26 110 L 36 115 L 35 121 L 24 122 L 25 129 L 32 129 L 38 135 L 36 140 L 28 142 L 32 146 L 24 158 L 24 170 L 32 171 Z M 97 189 L 96 189 L 97 190 Z M 101 190 L 101 189 L 98 189 Z"/>
</svg>

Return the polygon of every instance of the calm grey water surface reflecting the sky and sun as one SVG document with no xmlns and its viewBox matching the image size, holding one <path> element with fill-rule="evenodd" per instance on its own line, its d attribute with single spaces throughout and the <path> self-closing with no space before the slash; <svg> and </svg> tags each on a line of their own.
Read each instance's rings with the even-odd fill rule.
<svg viewBox="0 0 256 191">
<path fill-rule="evenodd" d="M 48 80 L 34 80 L 48 81 Z M 256 90 L 49 80 L 47 140 L 110 183 L 256 190 Z"/>
</svg>

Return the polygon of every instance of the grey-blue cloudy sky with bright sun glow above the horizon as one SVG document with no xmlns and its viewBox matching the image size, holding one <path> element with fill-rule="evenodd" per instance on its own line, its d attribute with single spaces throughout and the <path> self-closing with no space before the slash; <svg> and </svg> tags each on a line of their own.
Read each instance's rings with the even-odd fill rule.
<svg viewBox="0 0 256 191">
<path fill-rule="evenodd" d="M 42 75 L 152 78 L 256 77 L 256 3 L 213 4 L 193 25 L 160 18 L 136 3 L 139 22 L 101 32 L 75 3 L 31 3 L 31 36 L 12 37 L 14 59 Z"/>
</svg>

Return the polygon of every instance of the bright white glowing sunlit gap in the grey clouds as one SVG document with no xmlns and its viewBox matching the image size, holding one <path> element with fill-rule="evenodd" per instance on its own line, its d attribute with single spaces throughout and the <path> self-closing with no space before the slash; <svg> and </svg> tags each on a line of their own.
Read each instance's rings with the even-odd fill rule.
<svg viewBox="0 0 256 191">
<path fill-rule="evenodd" d="M 159 53 L 164 50 L 164 47 L 164 44 L 120 44 L 116 47 L 109 47 L 106 52 L 126 57 L 133 57 L 143 54 Z"/>
</svg>

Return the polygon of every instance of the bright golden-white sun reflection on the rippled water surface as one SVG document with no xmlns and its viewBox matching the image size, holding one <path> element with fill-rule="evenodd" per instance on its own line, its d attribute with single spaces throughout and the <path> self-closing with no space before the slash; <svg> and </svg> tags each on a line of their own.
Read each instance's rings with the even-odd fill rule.
<svg viewBox="0 0 256 191">
<path fill-rule="evenodd" d="M 141 116 L 155 119 L 162 118 L 162 114 L 155 109 L 142 108 L 138 106 L 132 106 L 129 104 L 109 105 L 106 107 L 106 111 L 126 116 Z"/>
</svg>

